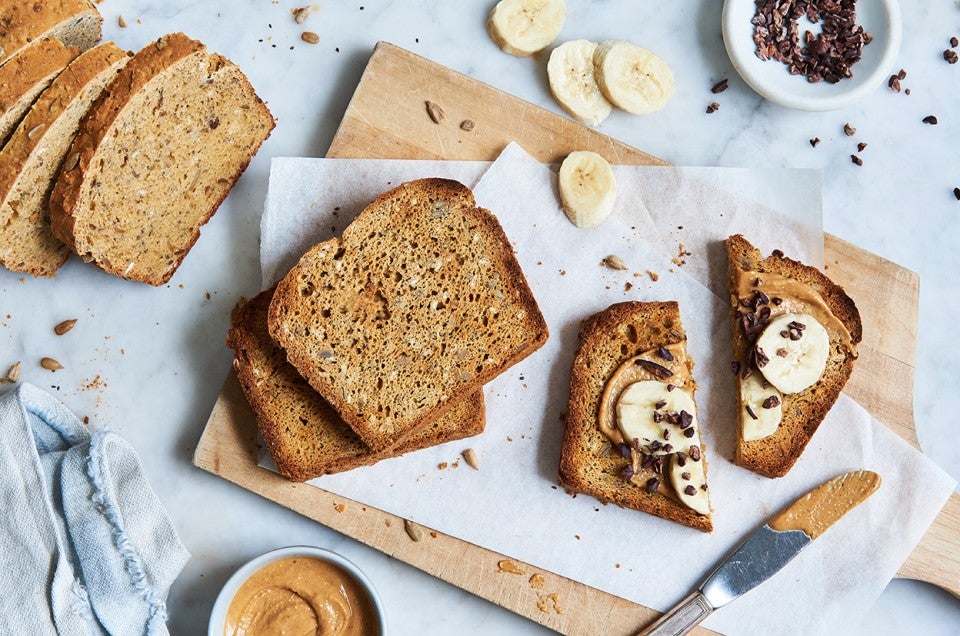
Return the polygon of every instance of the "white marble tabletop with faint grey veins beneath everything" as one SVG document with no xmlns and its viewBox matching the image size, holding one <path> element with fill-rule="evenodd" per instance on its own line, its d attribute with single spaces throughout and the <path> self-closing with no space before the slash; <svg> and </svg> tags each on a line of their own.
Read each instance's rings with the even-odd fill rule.
<svg viewBox="0 0 960 636">
<path fill-rule="evenodd" d="M 99 5 L 107 36 L 126 48 L 183 30 L 224 53 L 247 72 L 279 120 L 167 287 L 120 281 L 76 260 L 55 280 L 0 271 L 0 366 L 23 360 L 24 379 L 54 387 L 93 426 L 109 425 L 126 437 L 193 553 L 171 592 L 174 634 L 203 631 L 219 586 L 246 559 L 297 543 L 332 548 L 357 562 L 383 597 L 392 633 L 545 631 L 190 463 L 230 364 L 223 345 L 230 308 L 240 294 L 259 289 L 258 225 L 269 157 L 325 153 L 376 41 L 389 40 L 559 112 L 546 87 L 545 59 L 512 58 L 490 42 L 483 24 L 492 4 L 324 1 L 302 27 L 290 15 L 301 5 L 290 0 Z M 766 103 L 736 78 L 720 38 L 719 2 L 569 0 L 568 7 L 560 40 L 630 39 L 665 57 L 678 78 L 669 108 L 645 118 L 615 113 L 603 132 L 677 164 L 820 168 L 826 229 L 920 273 L 916 419 L 928 455 L 960 477 L 960 444 L 952 435 L 960 412 L 953 391 L 960 376 L 953 328 L 960 310 L 960 202 L 951 192 L 960 186 L 960 65 L 941 57 L 950 36 L 960 35 L 960 6 L 903 3 L 897 68 L 908 71 L 903 84 L 911 96 L 881 88 L 857 105 L 822 114 Z M 126 29 L 117 26 L 118 15 Z M 320 36 L 318 45 L 300 41 L 305 29 Z M 709 87 L 723 77 L 730 88 L 712 95 Z M 714 100 L 720 110 L 705 114 Z M 939 125 L 922 124 L 928 114 L 937 115 Z M 857 128 L 854 138 L 844 136 L 845 122 Z M 823 139 L 816 149 L 807 142 L 814 136 Z M 858 168 L 849 155 L 859 141 L 869 147 Z M 52 325 L 70 317 L 80 319 L 76 328 L 53 336 Z M 66 368 L 52 375 L 38 366 L 41 356 Z M 894 581 L 866 621 L 845 632 L 908 630 L 957 634 L 960 601 L 931 586 Z"/>
</svg>

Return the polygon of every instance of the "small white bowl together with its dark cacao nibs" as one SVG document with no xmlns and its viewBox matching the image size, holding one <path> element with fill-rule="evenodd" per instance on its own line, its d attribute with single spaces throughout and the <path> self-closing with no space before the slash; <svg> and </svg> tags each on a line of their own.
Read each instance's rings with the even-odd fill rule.
<svg viewBox="0 0 960 636">
<path fill-rule="evenodd" d="M 771 102 L 835 110 L 887 79 L 900 50 L 896 0 L 726 0 L 734 68 Z"/>
</svg>

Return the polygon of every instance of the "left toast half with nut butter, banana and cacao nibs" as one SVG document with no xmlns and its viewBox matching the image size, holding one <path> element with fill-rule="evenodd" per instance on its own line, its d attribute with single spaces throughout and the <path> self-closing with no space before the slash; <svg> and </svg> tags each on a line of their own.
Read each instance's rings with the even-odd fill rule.
<svg viewBox="0 0 960 636">
<path fill-rule="evenodd" d="M 692 369 L 675 302 L 618 303 L 586 319 L 570 373 L 560 483 L 711 531 Z M 629 399 L 638 389 L 649 405 Z M 649 435 L 635 433 L 648 425 Z"/>
</svg>

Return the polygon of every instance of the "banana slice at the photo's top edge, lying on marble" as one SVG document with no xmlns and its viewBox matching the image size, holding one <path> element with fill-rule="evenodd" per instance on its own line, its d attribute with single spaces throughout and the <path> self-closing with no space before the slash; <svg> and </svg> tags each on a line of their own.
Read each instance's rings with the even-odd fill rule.
<svg viewBox="0 0 960 636">
<path fill-rule="evenodd" d="M 566 17 L 563 0 L 500 0 L 490 12 L 487 30 L 504 53 L 526 57 L 550 46 Z"/>
</svg>

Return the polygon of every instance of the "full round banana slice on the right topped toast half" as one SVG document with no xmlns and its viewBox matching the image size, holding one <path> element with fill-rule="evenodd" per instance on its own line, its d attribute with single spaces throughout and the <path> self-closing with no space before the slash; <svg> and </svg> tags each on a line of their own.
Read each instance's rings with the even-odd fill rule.
<svg viewBox="0 0 960 636">
<path fill-rule="evenodd" d="M 799 393 L 823 375 L 830 336 L 808 314 L 780 314 L 757 338 L 757 367 L 781 393 Z"/>
</svg>

